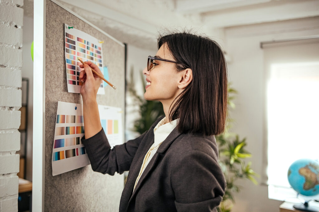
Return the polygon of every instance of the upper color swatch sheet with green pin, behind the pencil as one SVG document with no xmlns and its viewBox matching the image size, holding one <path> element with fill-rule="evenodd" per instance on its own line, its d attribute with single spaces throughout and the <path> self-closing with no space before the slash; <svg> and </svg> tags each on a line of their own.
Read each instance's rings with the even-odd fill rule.
<svg viewBox="0 0 319 212">
<path fill-rule="evenodd" d="M 80 93 L 82 82 L 79 80 L 81 70 L 78 59 L 91 61 L 103 69 L 102 44 L 93 36 L 70 28 L 64 24 L 65 28 L 65 65 L 68 92 Z M 101 83 L 98 94 L 105 94 L 104 84 Z"/>
</svg>

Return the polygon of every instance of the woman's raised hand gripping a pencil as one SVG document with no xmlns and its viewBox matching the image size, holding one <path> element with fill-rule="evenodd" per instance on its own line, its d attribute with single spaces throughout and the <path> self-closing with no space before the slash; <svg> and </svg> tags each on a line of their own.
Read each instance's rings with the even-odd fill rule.
<svg viewBox="0 0 319 212">
<path fill-rule="evenodd" d="M 96 94 L 99 90 L 102 79 L 98 77 L 95 73 L 93 73 L 91 68 L 93 68 L 94 71 L 98 72 L 102 76 L 103 74 L 100 71 L 99 67 L 94 63 L 90 61 L 86 61 L 84 63 L 84 65 L 80 65 L 80 68 L 84 68 L 84 70 L 81 71 L 79 75 L 80 81 L 83 81 L 80 92 L 83 97 L 83 101 L 90 99 L 96 100 Z"/>
</svg>

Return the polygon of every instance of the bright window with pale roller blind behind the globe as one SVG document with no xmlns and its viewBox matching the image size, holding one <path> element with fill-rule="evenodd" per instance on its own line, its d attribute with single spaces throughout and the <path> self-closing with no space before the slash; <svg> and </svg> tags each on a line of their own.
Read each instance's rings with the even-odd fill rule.
<svg viewBox="0 0 319 212">
<path fill-rule="evenodd" d="M 270 199 L 295 197 L 289 166 L 319 159 L 319 42 L 283 44 L 264 51 L 267 177 Z"/>
</svg>

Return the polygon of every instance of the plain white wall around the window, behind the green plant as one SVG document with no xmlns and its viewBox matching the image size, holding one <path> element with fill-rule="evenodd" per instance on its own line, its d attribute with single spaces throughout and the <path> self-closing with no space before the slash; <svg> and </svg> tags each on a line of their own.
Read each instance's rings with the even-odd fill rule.
<svg viewBox="0 0 319 212">
<path fill-rule="evenodd" d="M 262 175 L 265 145 L 265 77 L 263 49 L 260 42 L 319 34 L 319 17 L 254 24 L 225 29 L 225 44 L 232 62 L 228 64 L 229 81 L 238 91 L 236 108 L 230 113 L 235 120 L 233 133 L 247 137 L 247 150 L 252 154 L 252 168 Z M 261 178 L 258 179 L 261 182 Z M 268 199 L 265 185 L 255 186 L 239 181 L 241 193 L 235 195 L 233 212 L 278 211 L 280 201 Z"/>
</svg>

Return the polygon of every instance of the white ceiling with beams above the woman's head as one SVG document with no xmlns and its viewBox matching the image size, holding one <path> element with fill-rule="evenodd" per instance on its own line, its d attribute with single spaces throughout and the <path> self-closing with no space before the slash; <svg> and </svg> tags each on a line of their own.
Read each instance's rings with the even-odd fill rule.
<svg viewBox="0 0 319 212">
<path fill-rule="evenodd" d="M 319 0 L 58 1 L 118 40 L 149 49 L 162 30 L 195 28 L 222 37 L 227 27 L 319 16 Z M 33 16 L 33 0 L 23 8 Z"/>
</svg>

